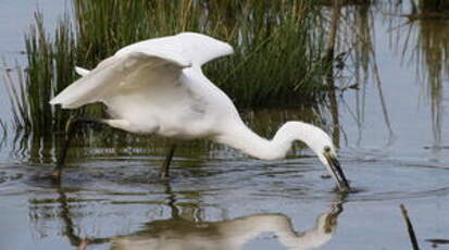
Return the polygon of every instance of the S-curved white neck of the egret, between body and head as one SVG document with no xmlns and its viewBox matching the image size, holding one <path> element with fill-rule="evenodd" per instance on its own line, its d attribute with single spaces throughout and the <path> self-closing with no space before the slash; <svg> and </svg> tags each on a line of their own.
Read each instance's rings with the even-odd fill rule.
<svg viewBox="0 0 449 250">
<path fill-rule="evenodd" d="M 219 142 L 239 149 L 245 153 L 261 160 L 276 160 L 286 157 L 291 143 L 301 140 L 311 145 L 309 133 L 314 126 L 302 122 L 287 122 L 272 140 L 260 137 L 244 123 L 228 127 L 226 133 L 216 137 Z"/>
</svg>

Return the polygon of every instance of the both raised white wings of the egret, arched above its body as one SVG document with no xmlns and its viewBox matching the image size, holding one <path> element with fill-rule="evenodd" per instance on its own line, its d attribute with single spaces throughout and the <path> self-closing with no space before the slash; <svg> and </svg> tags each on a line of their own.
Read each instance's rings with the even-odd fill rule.
<svg viewBox="0 0 449 250">
<path fill-rule="evenodd" d="M 138 73 L 140 68 L 145 67 L 147 73 L 151 71 L 152 78 L 164 78 L 163 75 L 177 75 L 185 67 L 200 67 L 208 61 L 230 53 L 233 48 L 228 43 L 196 33 L 136 42 L 103 60 L 90 72 L 76 68 L 83 77 L 65 88 L 50 103 L 61 104 L 64 109 L 79 108 L 101 101 L 123 84 L 138 84 L 144 75 L 148 75 Z M 171 70 L 162 70 L 164 65 Z M 158 77 L 154 77 L 154 74 Z"/>
</svg>

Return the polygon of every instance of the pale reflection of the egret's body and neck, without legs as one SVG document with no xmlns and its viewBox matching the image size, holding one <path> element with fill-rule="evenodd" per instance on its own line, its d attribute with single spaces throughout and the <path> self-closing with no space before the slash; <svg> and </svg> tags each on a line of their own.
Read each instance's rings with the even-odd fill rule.
<svg viewBox="0 0 449 250">
<path fill-rule="evenodd" d="M 337 228 L 338 204 L 320 215 L 315 227 L 298 234 L 283 214 L 257 214 L 224 222 L 195 223 L 167 220 L 149 223 L 147 228 L 111 240 L 113 250 L 216 249 L 237 250 L 263 233 L 272 233 L 289 250 L 315 249 L 326 243 Z"/>
</svg>

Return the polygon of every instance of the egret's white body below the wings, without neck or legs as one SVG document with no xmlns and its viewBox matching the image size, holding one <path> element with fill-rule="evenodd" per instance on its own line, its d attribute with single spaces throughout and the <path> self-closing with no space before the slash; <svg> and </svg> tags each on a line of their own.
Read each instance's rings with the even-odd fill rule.
<svg viewBox="0 0 449 250">
<path fill-rule="evenodd" d="M 146 72 L 136 77 L 139 79 L 133 80 L 140 83 L 139 88 L 124 87 L 103 99 L 116 118 L 136 126 L 136 133 L 151 130 L 151 121 L 158 126 L 151 133 L 164 137 L 212 137 L 223 125 L 240 121 L 229 98 L 198 68 L 185 68 L 177 76 L 160 77 Z"/>
</svg>

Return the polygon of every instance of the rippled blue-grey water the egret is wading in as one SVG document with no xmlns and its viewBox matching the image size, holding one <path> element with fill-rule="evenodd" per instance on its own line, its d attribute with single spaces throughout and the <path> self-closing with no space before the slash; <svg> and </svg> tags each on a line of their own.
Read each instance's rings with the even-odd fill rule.
<svg viewBox="0 0 449 250">
<path fill-rule="evenodd" d="M 65 9 L 37 2 L 48 25 Z M 35 7 L 8 5 L 23 11 L 16 24 L 23 30 Z M 301 147 L 287 160 L 263 162 L 186 143 L 176 151 L 171 180 L 160 182 L 166 143 L 145 148 L 136 138 L 123 143 L 123 135 L 75 140 L 64 180 L 55 185 L 42 177 L 54 152 L 21 150 L 10 136 L 0 151 L 0 249 L 76 249 L 86 238 L 87 249 L 411 249 L 401 203 L 423 249 L 432 246 L 426 239 L 448 239 L 449 24 L 404 25 L 407 20 L 391 17 L 387 8 L 371 11 L 381 83 L 371 60 L 369 71 L 348 80 L 360 90 L 337 92 L 339 153 L 357 192 L 335 192 L 334 182 L 322 178 L 322 164 Z M 0 20 L 10 18 L 7 12 L 0 10 Z M 9 59 L 21 57 L 22 34 L 14 30 L 0 26 L 8 35 L 0 52 Z M 244 113 L 265 136 L 287 120 L 316 120 L 298 109 Z M 333 130 L 326 110 L 323 117 Z"/>
</svg>

